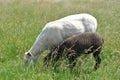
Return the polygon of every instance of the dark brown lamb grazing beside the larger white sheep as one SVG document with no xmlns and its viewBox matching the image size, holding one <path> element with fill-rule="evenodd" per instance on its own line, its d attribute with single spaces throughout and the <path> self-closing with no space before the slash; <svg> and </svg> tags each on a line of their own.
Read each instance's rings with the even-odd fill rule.
<svg viewBox="0 0 120 80">
<path fill-rule="evenodd" d="M 46 56 L 46 58 L 51 57 L 52 55 L 52 62 L 55 64 L 62 57 L 64 50 L 66 51 L 65 55 L 67 56 L 70 64 L 70 68 L 76 65 L 77 58 L 82 54 L 90 54 L 93 53 L 93 56 L 96 60 L 96 64 L 94 69 L 97 70 L 101 63 L 101 58 L 99 56 L 104 40 L 103 38 L 96 32 L 85 32 L 77 35 L 73 35 L 65 39 L 54 51 L 52 51 L 50 56 Z M 49 60 L 48 60 L 49 61 Z M 45 65 L 46 60 L 45 60 Z"/>
</svg>

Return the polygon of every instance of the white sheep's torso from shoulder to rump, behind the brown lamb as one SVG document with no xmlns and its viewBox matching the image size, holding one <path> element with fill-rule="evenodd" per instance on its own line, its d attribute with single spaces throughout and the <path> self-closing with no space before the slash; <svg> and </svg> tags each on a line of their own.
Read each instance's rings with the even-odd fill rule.
<svg viewBox="0 0 120 80">
<path fill-rule="evenodd" d="M 95 32 L 97 28 L 96 19 L 89 14 L 75 14 L 65 18 L 49 22 L 43 28 L 44 46 L 53 48 L 64 39 L 83 32 Z"/>
</svg>

